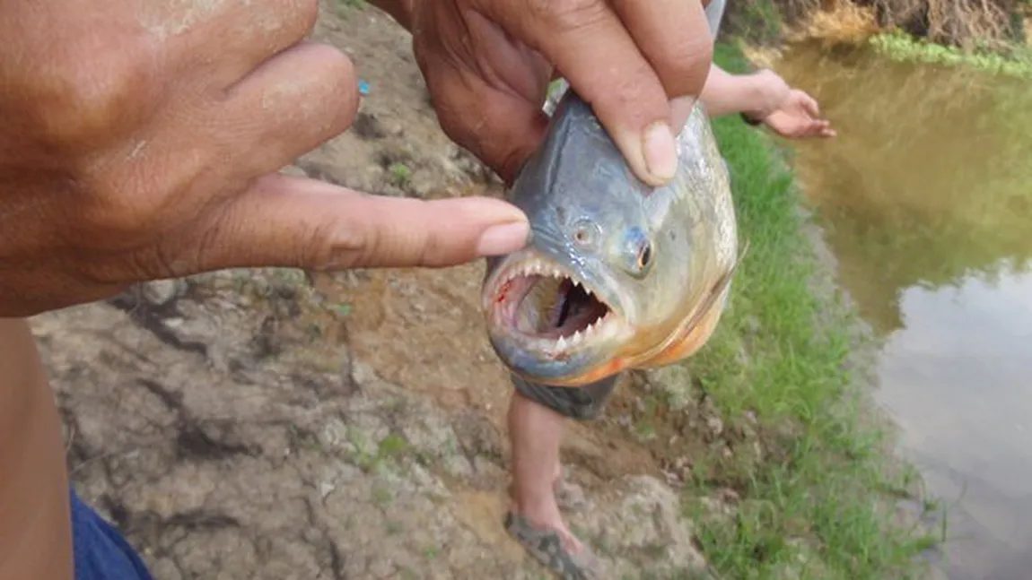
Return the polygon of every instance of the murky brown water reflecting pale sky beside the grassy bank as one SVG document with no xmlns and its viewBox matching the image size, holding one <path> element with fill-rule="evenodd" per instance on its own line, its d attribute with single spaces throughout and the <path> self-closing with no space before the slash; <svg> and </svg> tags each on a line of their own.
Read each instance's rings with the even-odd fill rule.
<svg viewBox="0 0 1032 580">
<path fill-rule="evenodd" d="M 775 68 L 838 129 L 795 165 L 948 510 L 948 578 L 1032 578 L 1032 95 L 816 43 Z"/>
</svg>

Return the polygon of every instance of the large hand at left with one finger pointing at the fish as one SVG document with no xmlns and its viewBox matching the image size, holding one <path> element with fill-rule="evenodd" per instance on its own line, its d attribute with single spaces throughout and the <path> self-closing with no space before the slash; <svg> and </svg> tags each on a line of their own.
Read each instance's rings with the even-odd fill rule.
<svg viewBox="0 0 1032 580">
<path fill-rule="evenodd" d="M 303 41 L 317 13 L 317 0 L 5 3 L 0 316 L 229 267 L 447 266 L 522 247 L 526 217 L 498 200 L 275 173 L 357 108 L 351 62 Z"/>
</svg>

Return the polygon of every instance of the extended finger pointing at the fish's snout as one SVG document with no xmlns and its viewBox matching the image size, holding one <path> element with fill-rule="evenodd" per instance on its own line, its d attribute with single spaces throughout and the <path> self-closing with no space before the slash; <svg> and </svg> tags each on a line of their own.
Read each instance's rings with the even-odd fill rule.
<svg viewBox="0 0 1032 580">
<path fill-rule="evenodd" d="M 437 201 L 372 196 L 271 174 L 234 198 L 191 238 L 200 271 L 245 267 L 342 270 L 455 266 L 526 245 L 516 207 L 471 197 Z"/>
</svg>

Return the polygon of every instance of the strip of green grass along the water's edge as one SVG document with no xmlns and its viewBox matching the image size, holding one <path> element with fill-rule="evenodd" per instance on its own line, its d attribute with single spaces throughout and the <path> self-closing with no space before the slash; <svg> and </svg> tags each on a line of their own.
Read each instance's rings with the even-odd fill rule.
<svg viewBox="0 0 1032 580">
<path fill-rule="evenodd" d="M 746 68 L 729 44 L 715 60 Z M 814 289 L 823 266 L 792 174 L 757 130 L 733 116 L 715 130 L 750 248 L 732 308 L 687 368 L 730 430 L 749 417 L 763 449 L 694 467 L 688 497 L 729 487 L 736 496 L 731 517 L 694 514 L 704 553 L 728 579 L 915 577 L 914 558 L 933 538 L 892 525 L 884 509 L 910 472 L 888 469 L 883 434 L 863 418 L 865 394 L 846 370 L 852 314 Z"/>
</svg>

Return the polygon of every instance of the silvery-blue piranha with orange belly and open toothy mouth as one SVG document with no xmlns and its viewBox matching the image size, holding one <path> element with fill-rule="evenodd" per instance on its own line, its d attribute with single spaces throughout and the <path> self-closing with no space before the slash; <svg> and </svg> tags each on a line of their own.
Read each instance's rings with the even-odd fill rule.
<svg viewBox="0 0 1032 580">
<path fill-rule="evenodd" d="M 698 102 L 676 141 L 676 176 L 647 185 L 587 103 L 573 90 L 559 100 L 509 194 L 530 242 L 489 260 L 482 286 L 491 345 L 514 373 L 582 386 L 709 340 L 741 260 L 730 175 Z"/>
</svg>

